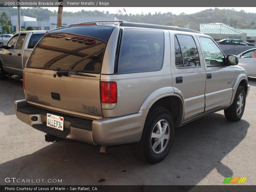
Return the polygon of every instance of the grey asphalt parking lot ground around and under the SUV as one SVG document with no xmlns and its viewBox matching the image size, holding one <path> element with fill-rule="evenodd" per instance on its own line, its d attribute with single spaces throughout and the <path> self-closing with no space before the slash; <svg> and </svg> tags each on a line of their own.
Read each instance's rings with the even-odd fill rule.
<svg viewBox="0 0 256 192">
<path fill-rule="evenodd" d="M 107 148 L 76 141 L 47 143 L 44 133 L 16 118 L 13 102 L 24 98 L 22 82 L 0 82 L 0 185 L 222 185 L 225 177 L 248 177 L 255 185 L 256 78 L 244 116 L 228 122 L 223 111 L 175 131 L 168 156 L 145 164 L 129 145 Z M 6 183 L 5 178 L 61 179 L 62 183 Z"/>
</svg>

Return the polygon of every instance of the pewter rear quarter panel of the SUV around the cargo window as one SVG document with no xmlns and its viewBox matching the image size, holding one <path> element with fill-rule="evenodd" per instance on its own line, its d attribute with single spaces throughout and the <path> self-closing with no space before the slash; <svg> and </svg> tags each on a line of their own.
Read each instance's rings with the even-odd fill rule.
<svg viewBox="0 0 256 192">
<path fill-rule="evenodd" d="M 124 116 L 138 113 L 150 93 L 172 85 L 170 66 L 170 37 L 164 31 L 164 61 L 162 69 L 154 72 L 120 75 L 101 75 L 101 81 L 117 83 L 117 105 L 112 110 L 102 110 L 104 117 Z"/>
</svg>

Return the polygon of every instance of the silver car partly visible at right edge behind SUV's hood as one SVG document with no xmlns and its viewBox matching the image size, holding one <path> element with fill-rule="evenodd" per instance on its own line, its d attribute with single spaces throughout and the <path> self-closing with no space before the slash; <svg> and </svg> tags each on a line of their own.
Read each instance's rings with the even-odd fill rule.
<svg viewBox="0 0 256 192">
<path fill-rule="evenodd" d="M 249 49 L 237 55 L 239 57 L 238 65 L 243 67 L 248 76 L 256 76 L 256 48 Z"/>
</svg>

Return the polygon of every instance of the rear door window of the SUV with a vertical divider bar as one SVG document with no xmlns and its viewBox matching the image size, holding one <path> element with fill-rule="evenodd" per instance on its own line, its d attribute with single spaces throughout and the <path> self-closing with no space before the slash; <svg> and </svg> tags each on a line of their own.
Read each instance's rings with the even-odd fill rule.
<svg viewBox="0 0 256 192">
<path fill-rule="evenodd" d="M 175 37 L 176 66 L 177 67 L 200 66 L 199 55 L 198 55 L 194 38 L 190 35 L 176 35 L 176 37 Z M 179 51 L 179 48 L 180 48 L 180 51 Z M 183 59 L 182 65 L 181 65 L 180 55 L 182 55 L 182 59 Z"/>
</svg>

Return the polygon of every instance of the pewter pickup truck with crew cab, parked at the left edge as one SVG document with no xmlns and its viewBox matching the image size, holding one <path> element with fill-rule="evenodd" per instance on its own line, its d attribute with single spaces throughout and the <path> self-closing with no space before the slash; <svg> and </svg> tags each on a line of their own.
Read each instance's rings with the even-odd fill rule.
<svg viewBox="0 0 256 192">
<path fill-rule="evenodd" d="M 22 78 L 24 65 L 36 43 L 46 31 L 21 31 L 16 33 L 4 45 L 0 42 L 0 79 L 6 79 L 6 74 Z"/>
</svg>

